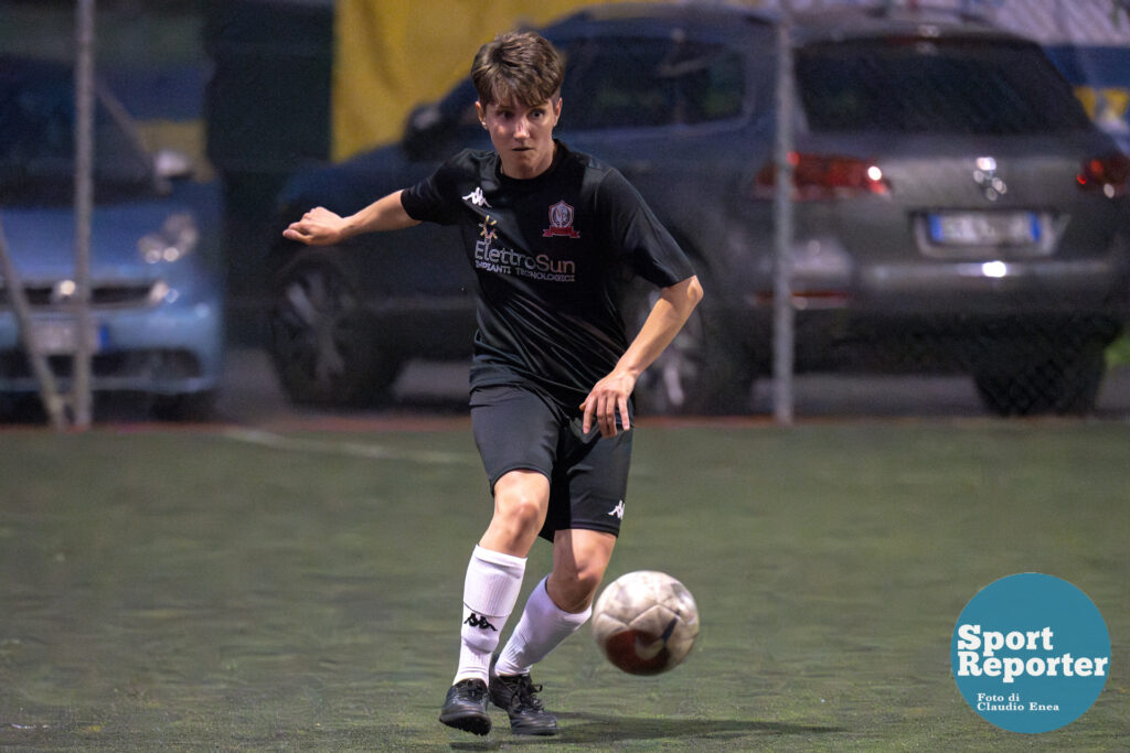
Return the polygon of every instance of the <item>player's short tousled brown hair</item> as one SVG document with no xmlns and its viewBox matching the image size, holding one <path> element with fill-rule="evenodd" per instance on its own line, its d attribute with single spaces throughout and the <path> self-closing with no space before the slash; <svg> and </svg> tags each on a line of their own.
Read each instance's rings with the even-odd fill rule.
<svg viewBox="0 0 1130 753">
<path fill-rule="evenodd" d="M 562 55 L 537 32 L 507 32 L 479 47 L 471 81 L 479 102 L 540 105 L 560 91 L 565 75 Z"/>
</svg>

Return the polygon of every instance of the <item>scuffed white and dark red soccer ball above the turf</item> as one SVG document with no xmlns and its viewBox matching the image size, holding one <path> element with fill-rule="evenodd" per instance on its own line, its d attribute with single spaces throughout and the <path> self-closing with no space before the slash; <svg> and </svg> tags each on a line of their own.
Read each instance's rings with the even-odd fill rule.
<svg viewBox="0 0 1130 753">
<path fill-rule="evenodd" d="M 686 586 L 655 570 L 620 576 L 592 611 L 592 636 L 617 667 L 657 675 L 678 666 L 698 637 L 698 607 Z"/>
</svg>

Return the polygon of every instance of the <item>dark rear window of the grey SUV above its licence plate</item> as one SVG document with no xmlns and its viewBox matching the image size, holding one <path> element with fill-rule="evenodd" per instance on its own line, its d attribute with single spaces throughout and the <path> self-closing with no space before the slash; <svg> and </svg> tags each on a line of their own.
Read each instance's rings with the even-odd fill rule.
<svg viewBox="0 0 1130 753">
<path fill-rule="evenodd" d="M 796 71 L 814 131 L 1048 134 L 1088 126 L 1067 81 L 1023 42 L 819 43 L 798 52 Z"/>
</svg>

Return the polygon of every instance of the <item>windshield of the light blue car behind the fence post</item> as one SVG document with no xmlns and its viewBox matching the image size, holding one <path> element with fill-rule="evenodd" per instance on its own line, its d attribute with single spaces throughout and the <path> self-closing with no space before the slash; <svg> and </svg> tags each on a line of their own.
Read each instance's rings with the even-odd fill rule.
<svg viewBox="0 0 1130 753">
<path fill-rule="evenodd" d="M 99 88 L 95 107 L 95 198 L 155 191 L 151 163 L 121 105 Z M 73 201 L 75 88 L 69 70 L 0 68 L 0 203 Z"/>
</svg>

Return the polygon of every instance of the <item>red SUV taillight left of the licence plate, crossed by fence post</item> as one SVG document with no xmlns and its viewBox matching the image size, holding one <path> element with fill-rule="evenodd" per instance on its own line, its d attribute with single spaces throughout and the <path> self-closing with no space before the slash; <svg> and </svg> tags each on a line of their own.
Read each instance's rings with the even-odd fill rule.
<svg viewBox="0 0 1130 753">
<path fill-rule="evenodd" d="M 792 164 L 792 198 L 796 201 L 883 195 L 890 184 L 878 165 L 858 157 L 789 152 Z M 776 165 L 767 163 L 758 173 L 755 193 L 768 198 L 776 185 Z"/>
</svg>

